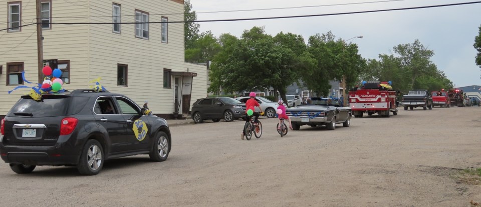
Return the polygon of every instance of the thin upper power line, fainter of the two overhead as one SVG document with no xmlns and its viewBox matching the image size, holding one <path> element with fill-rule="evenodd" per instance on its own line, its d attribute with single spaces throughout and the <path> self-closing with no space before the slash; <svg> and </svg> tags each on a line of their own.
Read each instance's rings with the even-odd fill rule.
<svg viewBox="0 0 481 207">
<path fill-rule="evenodd" d="M 66 0 L 64 0 L 66 1 Z M 300 7 L 282 7 L 282 8 L 267 8 L 267 9 L 250 9 L 250 10 L 228 10 L 228 11 L 213 11 L 213 12 L 196 12 L 195 14 L 210 14 L 210 13 L 227 13 L 227 12 L 252 12 L 252 11 L 267 11 L 267 10 L 285 10 L 285 9 L 300 9 L 300 8 L 314 8 L 314 7 L 331 7 L 331 6 L 345 6 L 345 5 L 360 5 L 360 4 L 373 4 L 373 3 L 386 3 L 386 2 L 398 2 L 404 0 L 386 0 L 377 2 L 358 2 L 358 3 L 346 3 L 346 4 L 331 4 L 331 5 L 315 5 L 315 6 L 300 6 Z M 185 13 L 170 13 L 170 14 L 149 14 L 149 16 L 162 16 L 162 15 L 186 15 Z M 121 15 L 115 17 L 129 17 L 136 15 Z M 55 17 L 55 18 L 91 18 L 91 17 L 114 17 L 108 16 L 84 16 L 84 17 Z"/>
</svg>

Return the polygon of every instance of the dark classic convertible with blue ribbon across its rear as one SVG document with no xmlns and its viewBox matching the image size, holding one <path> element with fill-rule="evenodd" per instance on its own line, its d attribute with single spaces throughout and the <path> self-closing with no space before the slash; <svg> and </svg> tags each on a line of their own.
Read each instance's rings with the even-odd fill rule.
<svg viewBox="0 0 481 207">
<path fill-rule="evenodd" d="M 352 110 L 342 107 L 337 98 L 311 98 L 311 104 L 289 108 L 286 115 L 291 118 L 294 130 L 299 130 L 302 125 L 326 125 L 327 129 L 334 130 L 336 124 L 349 127 Z"/>
</svg>

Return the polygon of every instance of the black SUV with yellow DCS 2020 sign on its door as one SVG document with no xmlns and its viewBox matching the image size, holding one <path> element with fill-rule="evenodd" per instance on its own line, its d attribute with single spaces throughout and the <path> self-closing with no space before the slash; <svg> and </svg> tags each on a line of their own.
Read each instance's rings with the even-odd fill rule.
<svg viewBox="0 0 481 207">
<path fill-rule="evenodd" d="M 164 161 L 171 148 L 167 122 L 145 111 L 107 91 L 79 89 L 40 101 L 25 95 L 2 120 L 0 156 L 17 173 L 36 165 L 77 165 L 81 174 L 93 175 L 104 160 L 136 154 Z"/>
</svg>

